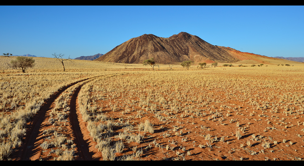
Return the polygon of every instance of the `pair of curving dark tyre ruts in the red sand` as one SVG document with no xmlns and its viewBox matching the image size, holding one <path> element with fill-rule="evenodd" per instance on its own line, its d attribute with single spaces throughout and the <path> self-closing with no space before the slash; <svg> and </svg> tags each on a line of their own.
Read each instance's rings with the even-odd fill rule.
<svg viewBox="0 0 304 166">
<path fill-rule="evenodd" d="M 66 132 L 65 134 L 70 138 L 75 138 L 76 150 L 75 155 L 78 156 L 75 160 L 100 160 L 100 155 L 94 155 L 98 153 L 95 146 L 92 146 L 93 140 L 88 136 L 85 122 L 82 121 L 81 114 L 78 110 L 77 97 L 81 87 L 85 84 L 86 80 L 93 79 L 96 77 L 81 80 L 70 85 L 64 86 L 57 92 L 55 92 L 41 107 L 34 118 L 28 122 L 26 126 L 26 136 L 21 147 L 13 154 L 13 160 L 48 160 L 48 158 L 41 158 L 43 156 L 43 150 L 40 144 L 44 141 L 43 130 L 50 128 L 52 124 L 48 124 L 50 117 L 49 113 L 55 106 L 55 100 L 69 87 L 81 83 L 74 91 L 69 101 L 70 114 L 69 122 L 70 125 L 62 127 Z M 86 136 L 84 138 L 84 136 Z M 92 157 L 94 156 L 94 157 Z M 94 159 L 93 159 L 94 158 Z"/>
</svg>

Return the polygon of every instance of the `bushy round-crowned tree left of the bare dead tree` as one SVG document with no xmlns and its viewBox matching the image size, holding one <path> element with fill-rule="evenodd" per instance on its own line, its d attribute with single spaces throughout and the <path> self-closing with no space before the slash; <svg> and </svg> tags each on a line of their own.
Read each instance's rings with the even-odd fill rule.
<svg viewBox="0 0 304 166">
<path fill-rule="evenodd" d="M 34 67 L 35 60 L 33 57 L 18 56 L 16 60 L 12 60 L 9 66 L 13 69 L 22 70 L 23 73 L 26 69 Z"/>
</svg>

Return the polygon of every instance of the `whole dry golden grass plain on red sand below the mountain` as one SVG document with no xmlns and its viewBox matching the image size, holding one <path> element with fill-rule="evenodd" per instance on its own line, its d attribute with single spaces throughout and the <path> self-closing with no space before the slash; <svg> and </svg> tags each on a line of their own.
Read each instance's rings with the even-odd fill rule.
<svg viewBox="0 0 304 166">
<path fill-rule="evenodd" d="M 244 60 L 233 67 L 152 70 L 73 60 L 62 72 L 54 58 L 34 57 L 35 67 L 21 73 L 5 65 L 14 57 L 0 59 L 1 160 L 304 159 L 303 63 L 269 59 L 251 67 L 260 63 Z M 28 127 L 64 87 L 24 157 Z M 87 149 L 75 136 L 74 109 Z"/>
</svg>

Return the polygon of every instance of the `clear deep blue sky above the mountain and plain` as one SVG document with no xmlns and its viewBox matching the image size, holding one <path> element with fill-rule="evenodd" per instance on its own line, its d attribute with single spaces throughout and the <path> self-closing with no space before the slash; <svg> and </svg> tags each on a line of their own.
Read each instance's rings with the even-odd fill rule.
<svg viewBox="0 0 304 166">
<path fill-rule="evenodd" d="M 154 34 L 187 32 L 212 45 L 304 57 L 304 6 L 0 6 L 0 54 L 105 54 Z"/>
</svg>

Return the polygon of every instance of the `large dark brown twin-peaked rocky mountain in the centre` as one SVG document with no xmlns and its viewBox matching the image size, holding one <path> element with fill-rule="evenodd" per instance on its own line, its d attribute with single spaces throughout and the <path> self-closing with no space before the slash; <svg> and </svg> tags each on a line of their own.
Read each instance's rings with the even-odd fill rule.
<svg viewBox="0 0 304 166">
<path fill-rule="evenodd" d="M 154 58 L 158 64 L 178 64 L 185 60 L 191 60 L 195 63 L 235 63 L 240 61 L 224 49 L 186 32 L 180 32 L 169 38 L 144 34 L 116 46 L 95 60 L 139 64 L 150 58 Z"/>
</svg>

